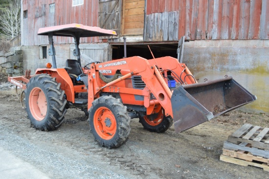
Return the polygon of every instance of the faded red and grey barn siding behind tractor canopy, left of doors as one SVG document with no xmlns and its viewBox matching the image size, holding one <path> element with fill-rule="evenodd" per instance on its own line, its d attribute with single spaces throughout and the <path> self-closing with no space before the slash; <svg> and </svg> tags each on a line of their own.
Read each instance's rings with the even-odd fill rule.
<svg viewBox="0 0 269 179">
<path fill-rule="evenodd" d="M 49 4 L 55 3 L 55 12 L 49 12 Z M 46 45 L 47 36 L 38 36 L 38 29 L 53 25 L 81 23 L 89 26 L 98 24 L 98 0 L 84 0 L 83 5 L 72 7 L 72 0 L 22 0 L 22 45 Z M 57 37 L 54 43 L 72 43 L 71 38 Z M 83 38 L 81 43 L 99 42 L 99 38 Z"/>
</svg>

